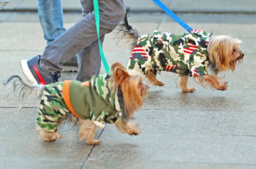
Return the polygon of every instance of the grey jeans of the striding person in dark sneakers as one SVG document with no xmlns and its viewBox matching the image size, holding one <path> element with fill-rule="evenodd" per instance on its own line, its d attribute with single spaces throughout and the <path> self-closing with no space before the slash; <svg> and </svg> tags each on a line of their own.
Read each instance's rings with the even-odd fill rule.
<svg viewBox="0 0 256 169">
<path fill-rule="evenodd" d="M 100 41 L 112 32 L 123 19 L 126 9 L 123 0 L 99 0 Z M 52 41 L 41 56 L 39 66 L 43 71 L 54 72 L 63 69 L 63 63 L 78 55 L 77 80 L 89 80 L 100 71 L 100 53 L 95 25 L 93 0 L 81 0 L 84 17 L 74 26 Z"/>
</svg>

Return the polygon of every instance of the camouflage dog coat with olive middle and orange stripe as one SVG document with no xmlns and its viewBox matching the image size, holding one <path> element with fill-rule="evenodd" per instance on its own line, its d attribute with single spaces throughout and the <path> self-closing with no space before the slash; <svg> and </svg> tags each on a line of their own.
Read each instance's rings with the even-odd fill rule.
<svg viewBox="0 0 256 169">
<path fill-rule="evenodd" d="M 114 123 L 120 118 L 119 113 L 123 109 L 120 100 L 123 98 L 120 89 L 111 90 L 109 78 L 107 74 L 93 76 L 89 86 L 82 86 L 75 80 L 45 85 L 38 111 L 38 126 L 54 132 L 67 113 L 73 113 L 80 119 L 90 119 L 100 127 Z M 65 83 L 70 84 L 68 88 L 65 88 Z M 69 101 L 64 96 L 66 91 Z"/>
</svg>

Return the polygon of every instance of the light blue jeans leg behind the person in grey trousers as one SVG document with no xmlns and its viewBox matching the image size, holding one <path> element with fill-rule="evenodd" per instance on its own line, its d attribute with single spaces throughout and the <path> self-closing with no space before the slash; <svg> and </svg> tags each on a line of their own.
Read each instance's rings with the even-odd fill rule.
<svg viewBox="0 0 256 169">
<path fill-rule="evenodd" d="M 38 0 L 38 15 L 47 45 L 66 31 L 61 0 Z"/>
</svg>

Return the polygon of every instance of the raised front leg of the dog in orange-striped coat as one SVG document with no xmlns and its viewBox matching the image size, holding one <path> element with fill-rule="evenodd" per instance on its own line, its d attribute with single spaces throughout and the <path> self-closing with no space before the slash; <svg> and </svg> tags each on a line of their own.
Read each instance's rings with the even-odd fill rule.
<svg viewBox="0 0 256 169">
<path fill-rule="evenodd" d="M 117 119 L 115 122 L 117 130 L 122 133 L 127 133 L 128 135 L 138 135 L 140 134 L 140 130 L 138 129 L 138 125 L 133 123 L 123 122 L 121 119 Z"/>
</svg>

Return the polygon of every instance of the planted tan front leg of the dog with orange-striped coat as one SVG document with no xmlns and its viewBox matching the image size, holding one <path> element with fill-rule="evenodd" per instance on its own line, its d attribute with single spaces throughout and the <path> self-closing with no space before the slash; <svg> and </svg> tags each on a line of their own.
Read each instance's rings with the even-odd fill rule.
<svg viewBox="0 0 256 169">
<path fill-rule="evenodd" d="M 95 132 L 98 129 L 98 127 L 93 123 L 93 121 L 84 121 L 79 130 L 79 139 L 80 140 L 86 140 L 87 144 L 95 145 L 99 144 L 100 140 L 94 139 Z"/>
</svg>

